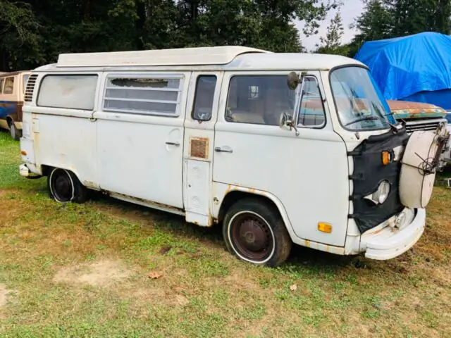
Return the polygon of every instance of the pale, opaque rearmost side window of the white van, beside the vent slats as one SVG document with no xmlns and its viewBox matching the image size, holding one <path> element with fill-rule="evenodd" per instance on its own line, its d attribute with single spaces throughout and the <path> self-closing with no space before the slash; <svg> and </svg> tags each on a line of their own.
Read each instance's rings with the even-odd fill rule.
<svg viewBox="0 0 451 338">
<path fill-rule="evenodd" d="M 97 75 L 46 75 L 37 106 L 94 110 Z"/>
</svg>

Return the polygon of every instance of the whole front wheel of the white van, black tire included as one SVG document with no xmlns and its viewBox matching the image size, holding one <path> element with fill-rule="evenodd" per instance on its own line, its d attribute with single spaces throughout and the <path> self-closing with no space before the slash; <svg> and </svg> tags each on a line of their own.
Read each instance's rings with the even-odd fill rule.
<svg viewBox="0 0 451 338">
<path fill-rule="evenodd" d="M 275 267 L 290 256 L 292 241 L 282 217 L 259 199 L 235 202 L 223 220 L 228 251 L 242 261 Z"/>
</svg>

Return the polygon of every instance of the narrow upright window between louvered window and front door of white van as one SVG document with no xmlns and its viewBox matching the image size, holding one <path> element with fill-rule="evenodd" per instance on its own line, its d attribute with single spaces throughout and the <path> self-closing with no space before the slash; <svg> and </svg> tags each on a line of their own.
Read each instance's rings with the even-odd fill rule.
<svg viewBox="0 0 451 338">
<path fill-rule="evenodd" d="M 216 89 L 216 75 L 200 75 L 197 77 L 196 94 L 192 118 L 199 121 L 209 121 L 213 110 L 214 90 Z"/>
</svg>

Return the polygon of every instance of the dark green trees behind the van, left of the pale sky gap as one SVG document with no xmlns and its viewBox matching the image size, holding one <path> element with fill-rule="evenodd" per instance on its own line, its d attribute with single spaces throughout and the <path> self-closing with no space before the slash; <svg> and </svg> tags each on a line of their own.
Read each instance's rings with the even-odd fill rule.
<svg viewBox="0 0 451 338">
<path fill-rule="evenodd" d="M 316 34 L 335 0 L 1 0 L 0 69 L 66 52 L 245 45 L 302 51 L 293 20 Z"/>
</svg>

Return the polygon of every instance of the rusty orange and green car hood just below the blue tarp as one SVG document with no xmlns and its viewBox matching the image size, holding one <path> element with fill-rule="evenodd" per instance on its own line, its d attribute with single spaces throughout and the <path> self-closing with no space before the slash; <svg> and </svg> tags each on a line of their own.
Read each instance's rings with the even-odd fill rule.
<svg viewBox="0 0 451 338">
<path fill-rule="evenodd" d="M 444 118 L 446 111 L 433 104 L 388 100 L 388 106 L 396 119 Z"/>
</svg>

